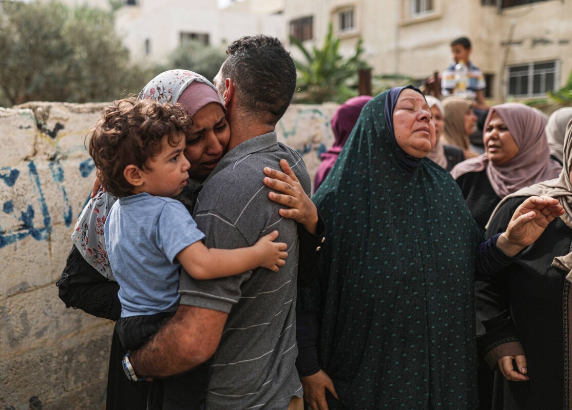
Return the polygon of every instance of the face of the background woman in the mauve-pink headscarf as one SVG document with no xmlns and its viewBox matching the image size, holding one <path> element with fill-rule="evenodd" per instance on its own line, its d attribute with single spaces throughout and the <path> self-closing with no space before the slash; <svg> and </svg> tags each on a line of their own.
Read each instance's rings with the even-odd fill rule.
<svg viewBox="0 0 572 410">
<path fill-rule="evenodd" d="M 483 135 L 484 149 L 488 159 L 495 165 L 509 162 L 518 154 L 518 145 L 502 118 L 492 112 Z"/>
</svg>

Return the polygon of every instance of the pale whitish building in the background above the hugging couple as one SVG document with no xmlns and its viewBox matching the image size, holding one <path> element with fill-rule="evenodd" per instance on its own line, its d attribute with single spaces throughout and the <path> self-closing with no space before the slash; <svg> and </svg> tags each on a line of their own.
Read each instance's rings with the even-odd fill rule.
<svg viewBox="0 0 572 410">
<path fill-rule="evenodd" d="M 216 0 L 129 0 L 116 11 L 115 26 L 133 61 L 165 63 L 188 39 L 224 49 L 243 35 L 266 33 L 283 39 L 283 17 L 274 13 L 261 1 L 254 7 L 237 3 L 219 9 Z"/>
</svg>

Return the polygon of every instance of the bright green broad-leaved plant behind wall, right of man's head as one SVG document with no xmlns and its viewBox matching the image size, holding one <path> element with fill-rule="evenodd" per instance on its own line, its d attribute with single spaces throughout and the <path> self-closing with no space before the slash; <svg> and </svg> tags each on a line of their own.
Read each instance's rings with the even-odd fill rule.
<svg viewBox="0 0 572 410">
<path fill-rule="evenodd" d="M 307 50 L 302 42 L 292 36 L 290 41 L 301 51 L 305 60 L 294 60 L 299 75 L 296 101 L 343 103 L 357 95 L 358 70 L 368 68 L 361 59 L 364 52 L 362 39 L 359 39 L 355 53 L 348 59 L 344 59 L 339 52 L 340 39 L 333 37 L 331 23 L 321 48 L 312 46 L 312 50 Z"/>
</svg>

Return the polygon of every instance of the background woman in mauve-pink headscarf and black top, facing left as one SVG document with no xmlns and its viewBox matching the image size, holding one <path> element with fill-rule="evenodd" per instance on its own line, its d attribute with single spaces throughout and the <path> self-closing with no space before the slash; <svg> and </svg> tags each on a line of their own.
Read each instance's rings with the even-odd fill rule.
<svg viewBox="0 0 572 410">
<path fill-rule="evenodd" d="M 556 178 L 562 169 L 550 159 L 546 119 L 525 104 L 490 109 L 484 123 L 485 153 L 452 169 L 472 217 L 484 228 L 506 195 Z"/>
</svg>

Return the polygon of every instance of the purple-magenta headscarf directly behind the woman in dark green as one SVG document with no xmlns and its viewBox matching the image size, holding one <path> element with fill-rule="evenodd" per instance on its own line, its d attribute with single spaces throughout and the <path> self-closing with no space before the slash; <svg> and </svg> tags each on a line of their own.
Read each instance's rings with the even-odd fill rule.
<svg viewBox="0 0 572 410">
<path fill-rule="evenodd" d="M 360 95 L 359 97 L 350 98 L 341 104 L 335 114 L 333 114 L 331 124 L 336 141 L 328 151 L 321 154 L 322 162 L 316 172 L 314 191 L 317 191 L 321 183 L 324 182 L 325 177 L 328 176 L 329 171 L 332 170 L 333 164 L 336 163 L 341 149 L 344 147 L 349 134 L 351 134 L 353 130 L 353 126 L 355 126 L 358 121 L 363 106 L 370 100 L 370 95 Z"/>
</svg>

